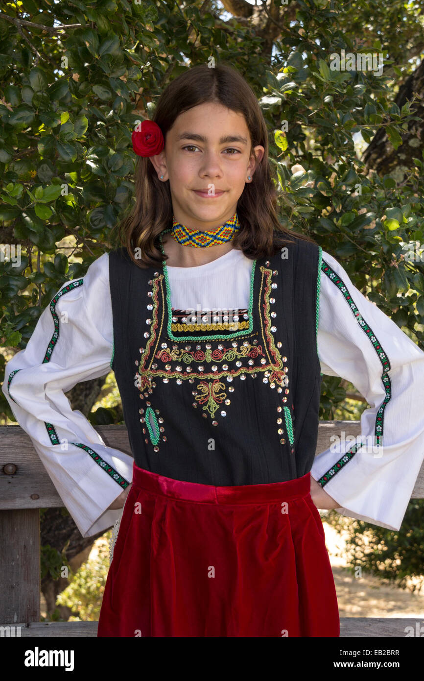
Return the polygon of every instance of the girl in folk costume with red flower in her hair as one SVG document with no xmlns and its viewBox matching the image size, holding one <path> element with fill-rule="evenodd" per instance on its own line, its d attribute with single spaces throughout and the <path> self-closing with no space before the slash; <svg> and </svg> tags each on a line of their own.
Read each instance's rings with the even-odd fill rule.
<svg viewBox="0 0 424 681">
<path fill-rule="evenodd" d="M 317 507 L 400 528 L 424 353 L 282 229 L 265 121 L 234 69 L 176 78 L 133 148 L 125 245 L 60 289 L 3 383 L 82 535 L 122 513 L 98 635 L 338 637 Z M 110 366 L 133 460 L 63 394 Z M 370 409 L 361 441 L 314 458 L 323 373 Z"/>
</svg>

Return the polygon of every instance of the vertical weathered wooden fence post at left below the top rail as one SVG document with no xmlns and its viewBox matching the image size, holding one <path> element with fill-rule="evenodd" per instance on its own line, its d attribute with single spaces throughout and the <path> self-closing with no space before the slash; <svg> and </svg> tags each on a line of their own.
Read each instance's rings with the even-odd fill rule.
<svg viewBox="0 0 424 681">
<path fill-rule="evenodd" d="M 0 511 L 0 619 L 39 621 L 39 510 Z"/>
</svg>

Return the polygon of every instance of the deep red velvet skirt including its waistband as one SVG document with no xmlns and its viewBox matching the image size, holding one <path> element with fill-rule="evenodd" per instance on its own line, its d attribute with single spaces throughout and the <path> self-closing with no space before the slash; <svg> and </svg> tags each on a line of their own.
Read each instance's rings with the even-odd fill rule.
<svg viewBox="0 0 424 681">
<path fill-rule="evenodd" d="M 97 636 L 339 635 L 309 473 L 216 487 L 134 464 Z"/>
</svg>

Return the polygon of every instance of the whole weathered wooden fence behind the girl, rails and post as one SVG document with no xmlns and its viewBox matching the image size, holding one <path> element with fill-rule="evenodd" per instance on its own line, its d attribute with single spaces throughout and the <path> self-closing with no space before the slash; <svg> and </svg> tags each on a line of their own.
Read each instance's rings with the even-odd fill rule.
<svg viewBox="0 0 424 681">
<path fill-rule="evenodd" d="M 106 445 L 131 455 L 125 426 L 98 426 Z M 332 435 L 357 437 L 359 421 L 319 424 L 316 454 Z M 7 464 L 12 464 L 7 466 Z M 412 492 L 424 498 L 424 464 Z M 39 509 L 63 502 L 20 426 L 0 426 L 0 636 L 93 636 L 97 622 L 40 622 Z M 341 637 L 404 637 L 419 618 L 340 618 Z M 419 625 L 422 624 L 419 622 Z M 20 628 L 20 629 L 19 629 Z"/>
</svg>

